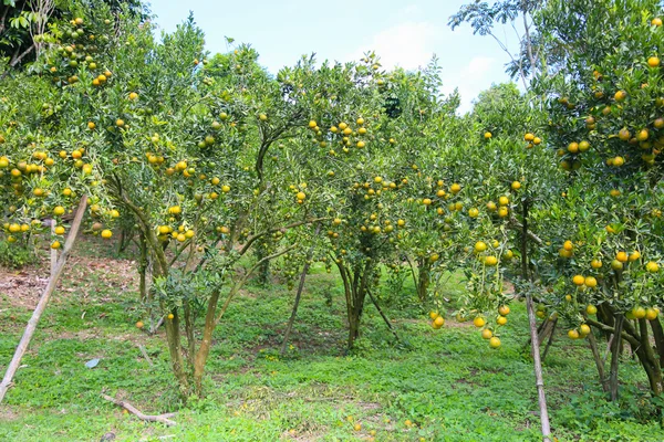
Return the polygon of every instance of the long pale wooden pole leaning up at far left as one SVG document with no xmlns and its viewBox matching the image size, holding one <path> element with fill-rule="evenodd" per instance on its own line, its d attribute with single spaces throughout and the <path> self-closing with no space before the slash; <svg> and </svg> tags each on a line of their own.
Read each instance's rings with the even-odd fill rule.
<svg viewBox="0 0 664 442">
<path fill-rule="evenodd" d="M 79 209 L 76 210 L 76 215 L 74 217 L 74 222 L 72 223 L 72 229 L 70 230 L 69 236 L 66 236 L 66 241 L 64 242 L 64 249 L 62 249 L 62 253 L 60 254 L 60 259 L 58 260 L 58 265 L 55 265 L 54 271 L 51 273 L 51 277 L 49 277 L 49 283 L 44 288 L 41 297 L 39 298 L 39 303 L 32 312 L 32 317 L 28 322 L 28 326 L 25 327 L 25 332 L 23 332 L 23 337 L 19 343 L 17 350 L 14 351 L 14 356 L 9 362 L 7 367 L 7 372 L 4 373 L 4 378 L 2 379 L 2 383 L 0 383 L 0 402 L 4 398 L 9 386 L 11 385 L 11 380 L 13 379 L 14 373 L 19 369 L 19 365 L 21 364 L 21 358 L 28 350 L 28 345 L 30 345 L 30 340 L 32 339 L 32 335 L 34 335 L 34 330 L 37 329 L 37 324 L 41 318 L 41 315 L 44 313 L 46 305 L 49 304 L 49 299 L 58 285 L 58 281 L 60 280 L 60 275 L 64 270 L 64 264 L 66 264 L 66 259 L 69 256 L 72 246 L 74 245 L 74 241 L 76 241 L 76 234 L 79 233 L 79 228 L 81 227 L 81 221 L 83 220 L 83 214 L 85 213 L 85 207 L 87 206 L 87 197 L 83 196 L 81 198 L 81 202 L 79 203 Z"/>
</svg>

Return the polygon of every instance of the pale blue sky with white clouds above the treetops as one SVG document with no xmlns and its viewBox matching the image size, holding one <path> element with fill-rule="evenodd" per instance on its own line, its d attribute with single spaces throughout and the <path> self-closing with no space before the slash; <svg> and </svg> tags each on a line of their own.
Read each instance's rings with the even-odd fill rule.
<svg viewBox="0 0 664 442">
<path fill-rule="evenodd" d="M 460 113 L 491 84 L 510 81 L 509 55 L 490 36 L 474 35 L 469 24 L 453 31 L 448 19 L 474 0 L 301 1 L 301 0 L 152 0 L 157 25 L 170 32 L 194 12 L 210 52 L 226 52 L 226 36 L 249 43 L 271 73 L 293 65 L 301 55 L 347 62 L 373 50 L 383 67 L 416 70 L 432 56 L 439 59 L 443 93 L 458 87 Z M 498 28 L 512 53 L 517 38 L 511 27 Z"/>
</svg>

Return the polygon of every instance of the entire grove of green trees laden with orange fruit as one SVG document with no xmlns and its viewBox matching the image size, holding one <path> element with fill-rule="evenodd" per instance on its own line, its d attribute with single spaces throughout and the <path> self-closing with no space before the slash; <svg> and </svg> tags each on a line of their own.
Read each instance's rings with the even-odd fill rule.
<svg viewBox="0 0 664 442">
<path fill-rule="evenodd" d="M 453 27 L 522 21 L 508 71 L 526 92 L 495 85 L 464 116 L 436 59 L 303 56 L 272 75 L 250 45 L 207 53 L 193 17 L 158 35 L 135 2 L 48 7 L 0 12 L 2 261 L 62 249 L 80 207 L 85 234 L 135 241 L 138 326 L 165 327 L 183 397 L 205 394 L 216 327 L 250 278 L 294 287 L 321 262 L 343 283 L 350 350 L 387 277 L 413 280 L 434 328 L 473 320 L 496 349 L 526 301 L 544 439 L 539 345 L 557 328 L 588 339 L 610 400 L 633 354 L 661 419 L 658 1 L 465 6 Z M 467 285 L 454 313 L 452 272 Z"/>
</svg>

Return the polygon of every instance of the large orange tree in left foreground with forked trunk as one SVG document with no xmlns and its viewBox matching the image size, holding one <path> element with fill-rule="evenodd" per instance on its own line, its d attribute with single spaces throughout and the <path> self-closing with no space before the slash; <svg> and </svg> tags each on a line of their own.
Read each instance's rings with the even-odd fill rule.
<svg viewBox="0 0 664 442">
<path fill-rule="evenodd" d="M 17 170 L 3 186 L 15 190 L 8 198 L 23 218 L 62 215 L 75 196 L 89 194 L 90 228 L 103 238 L 120 217 L 137 224 L 152 263 L 147 307 L 164 318 L 181 391 L 200 391 L 215 326 L 234 295 L 262 262 L 295 246 L 277 233 L 311 222 L 305 196 L 282 186 L 299 169 L 268 154 L 304 130 L 314 73 L 294 86 L 272 80 L 247 48 L 208 73 L 191 19 L 158 42 L 148 22 L 114 20 L 97 7 L 53 28 L 41 76 L 29 77 L 52 86 L 44 86 L 41 119 L 6 130 L 7 145 L 21 149 L 0 164 Z M 273 252 L 238 272 L 238 260 L 267 240 Z"/>
</svg>

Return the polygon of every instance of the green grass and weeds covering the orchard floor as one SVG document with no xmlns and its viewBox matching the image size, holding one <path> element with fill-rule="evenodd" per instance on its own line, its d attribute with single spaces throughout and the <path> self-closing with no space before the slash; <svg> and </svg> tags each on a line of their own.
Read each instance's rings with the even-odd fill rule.
<svg viewBox="0 0 664 442">
<path fill-rule="evenodd" d="M 163 334 L 134 327 L 142 317 L 136 276 L 100 243 L 79 248 L 0 406 L 2 441 L 538 441 L 532 364 L 521 352 L 525 308 L 516 303 L 491 350 L 477 329 L 448 320 L 433 330 L 406 285 L 382 302 L 403 341 L 373 306 L 356 351 L 346 333 L 340 282 L 315 267 L 292 343 L 279 355 L 293 291 L 249 286 L 215 334 L 205 398 L 184 406 Z M 453 275 L 446 295 L 463 290 Z M 30 308 L 0 288 L 0 362 L 11 358 Z M 448 315 L 450 317 L 452 315 Z M 151 368 L 137 345 L 144 345 Z M 604 400 L 583 340 L 558 336 L 544 365 L 552 428 L 560 441 L 662 441 L 649 420 L 645 379 L 626 359 L 623 400 Z M 100 358 L 94 369 L 85 367 Z M 4 366 L 1 366 L 2 368 Z M 175 428 L 146 423 L 100 397 L 126 398 L 146 413 L 178 411 Z M 414 423 L 406 427 L 409 420 Z M 354 423 L 362 429 L 355 431 Z"/>
</svg>

